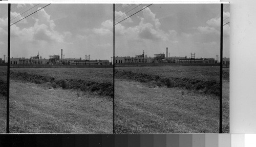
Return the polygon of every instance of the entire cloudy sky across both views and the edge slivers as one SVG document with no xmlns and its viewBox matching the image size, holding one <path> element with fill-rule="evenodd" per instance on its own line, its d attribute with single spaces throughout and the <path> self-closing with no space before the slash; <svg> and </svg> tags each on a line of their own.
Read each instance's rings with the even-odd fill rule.
<svg viewBox="0 0 256 147">
<path fill-rule="evenodd" d="M 11 23 L 44 6 L 13 4 Z M 117 4 L 115 22 L 145 6 Z M 1 4 L 0 58 L 7 55 L 7 12 L 7 5 Z M 229 7 L 224 5 L 224 19 L 229 15 Z M 229 24 L 224 26 L 223 41 L 223 56 L 229 57 Z M 147 56 L 153 57 L 165 53 L 166 47 L 170 56 L 189 57 L 190 53 L 196 53 L 196 57 L 216 58 L 220 55 L 220 5 L 153 4 L 115 25 L 115 56 L 135 56 L 144 50 Z M 91 60 L 111 61 L 113 5 L 51 4 L 11 26 L 11 57 L 27 58 L 39 52 L 48 58 L 60 55 L 60 49 L 65 58 L 84 59 L 90 54 Z"/>
</svg>

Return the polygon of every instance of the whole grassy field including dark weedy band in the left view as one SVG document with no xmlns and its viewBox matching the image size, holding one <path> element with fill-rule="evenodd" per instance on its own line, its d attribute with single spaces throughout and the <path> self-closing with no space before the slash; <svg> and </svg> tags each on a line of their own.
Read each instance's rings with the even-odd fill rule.
<svg viewBox="0 0 256 147">
<path fill-rule="evenodd" d="M 13 68 L 11 133 L 112 133 L 113 69 Z"/>
</svg>

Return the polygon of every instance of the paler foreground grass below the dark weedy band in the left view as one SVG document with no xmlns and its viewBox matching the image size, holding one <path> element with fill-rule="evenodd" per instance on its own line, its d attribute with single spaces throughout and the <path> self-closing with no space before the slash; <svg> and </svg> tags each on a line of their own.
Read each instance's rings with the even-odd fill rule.
<svg viewBox="0 0 256 147">
<path fill-rule="evenodd" d="M 11 133 L 111 133 L 113 101 L 11 81 Z"/>
</svg>

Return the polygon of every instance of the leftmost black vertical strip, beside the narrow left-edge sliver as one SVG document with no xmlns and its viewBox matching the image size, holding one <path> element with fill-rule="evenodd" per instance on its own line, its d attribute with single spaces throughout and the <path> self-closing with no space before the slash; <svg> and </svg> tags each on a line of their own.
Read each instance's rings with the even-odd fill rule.
<svg viewBox="0 0 256 147">
<path fill-rule="evenodd" d="M 11 4 L 8 4 L 8 67 L 7 67 L 7 110 L 6 133 L 9 133 L 9 97 L 10 97 L 10 39 L 11 39 Z"/>
</svg>

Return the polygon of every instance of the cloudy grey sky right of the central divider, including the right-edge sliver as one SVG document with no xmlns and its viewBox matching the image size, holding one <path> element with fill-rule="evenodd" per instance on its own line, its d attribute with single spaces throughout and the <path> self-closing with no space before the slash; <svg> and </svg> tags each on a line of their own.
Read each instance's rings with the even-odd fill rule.
<svg viewBox="0 0 256 147">
<path fill-rule="evenodd" d="M 148 5 L 143 5 L 143 8 Z M 118 4 L 116 22 L 126 7 Z M 141 6 L 142 7 L 142 6 Z M 220 4 L 153 4 L 116 24 L 116 56 L 166 54 L 197 58 L 220 56 Z M 126 15 L 126 14 L 124 14 Z M 229 6 L 224 5 L 224 24 Z M 227 19 L 226 19 L 227 18 Z M 229 24 L 223 28 L 223 57 L 229 57 Z"/>
</svg>

